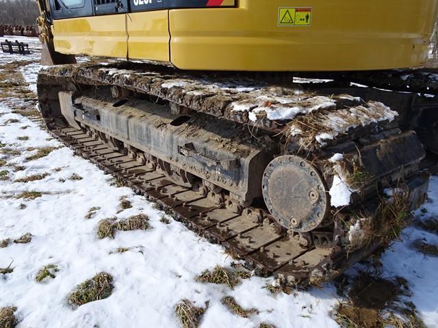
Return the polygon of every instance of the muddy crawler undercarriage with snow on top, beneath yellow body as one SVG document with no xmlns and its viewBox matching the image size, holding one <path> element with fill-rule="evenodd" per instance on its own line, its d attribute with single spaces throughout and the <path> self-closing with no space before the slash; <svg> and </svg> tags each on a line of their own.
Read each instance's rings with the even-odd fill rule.
<svg viewBox="0 0 438 328">
<path fill-rule="evenodd" d="M 304 286 L 396 238 L 428 174 L 380 91 L 291 79 L 64 65 L 40 72 L 38 95 L 49 131 L 78 154 L 248 269 Z"/>
</svg>

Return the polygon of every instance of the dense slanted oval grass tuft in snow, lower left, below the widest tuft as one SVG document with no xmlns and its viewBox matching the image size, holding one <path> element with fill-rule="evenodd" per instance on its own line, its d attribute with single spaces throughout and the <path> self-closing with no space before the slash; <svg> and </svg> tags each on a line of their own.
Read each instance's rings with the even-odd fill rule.
<svg viewBox="0 0 438 328">
<path fill-rule="evenodd" d="M 109 273 L 98 273 L 91 279 L 76 286 L 75 290 L 67 297 L 68 304 L 77 307 L 110 297 L 114 289 L 112 280 L 112 275 Z"/>
</svg>

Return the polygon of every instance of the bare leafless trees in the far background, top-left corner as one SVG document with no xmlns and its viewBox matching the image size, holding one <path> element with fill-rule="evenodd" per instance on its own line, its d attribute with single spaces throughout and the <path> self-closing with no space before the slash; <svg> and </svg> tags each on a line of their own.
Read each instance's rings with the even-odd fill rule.
<svg viewBox="0 0 438 328">
<path fill-rule="evenodd" d="M 38 15 L 35 0 L 0 0 L 0 25 L 35 25 Z"/>
</svg>

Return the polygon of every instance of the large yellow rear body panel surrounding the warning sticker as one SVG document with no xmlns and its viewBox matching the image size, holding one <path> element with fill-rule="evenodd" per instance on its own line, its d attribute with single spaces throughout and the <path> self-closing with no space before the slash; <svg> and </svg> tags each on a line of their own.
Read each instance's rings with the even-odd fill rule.
<svg viewBox="0 0 438 328">
<path fill-rule="evenodd" d="M 437 0 L 240 0 L 170 10 L 181 69 L 374 70 L 426 61 Z M 279 26 L 279 8 L 312 8 L 311 26 Z"/>
</svg>

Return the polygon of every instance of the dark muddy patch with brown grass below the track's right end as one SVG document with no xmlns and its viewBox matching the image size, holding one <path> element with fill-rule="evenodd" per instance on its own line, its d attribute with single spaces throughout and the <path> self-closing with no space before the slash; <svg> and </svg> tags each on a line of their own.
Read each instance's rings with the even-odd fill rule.
<svg viewBox="0 0 438 328">
<path fill-rule="evenodd" d="M 403 300 L 409 296 L 403 278 L 387 280 L 361 274 L 350 286 L 348 301 L 335 308 L 334 318 L 342 328 L 424 327 L 415 305 Z"/>
</svg>

